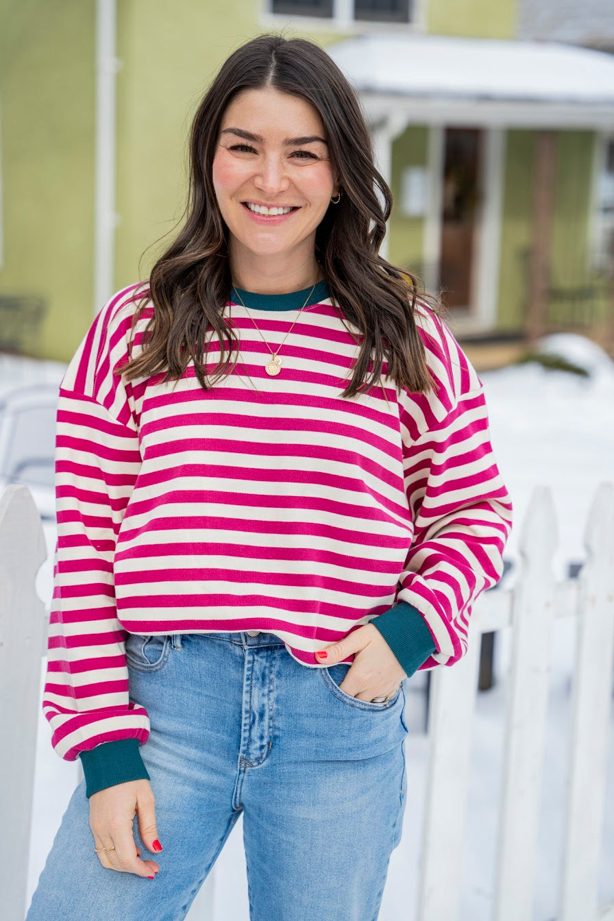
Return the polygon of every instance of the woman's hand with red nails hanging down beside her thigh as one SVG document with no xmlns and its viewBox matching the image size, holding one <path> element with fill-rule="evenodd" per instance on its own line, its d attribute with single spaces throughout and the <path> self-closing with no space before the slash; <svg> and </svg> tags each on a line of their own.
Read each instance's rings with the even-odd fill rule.
<svg viewBox="0 0 614 921">
<path fill-rule="evenodd" d="M 139 859 L 133 837 L 133 818 L 138 812 L 139 833 L 150 851 L 156 851 L 156 798 L 146 778 L 114 784 L 89 798 L 89 827 L 95 847 L 115 847 L 98 851 L 98 860 L 106 869 L 136 876 L 154 876 L 160 869 L 155 860 Z M 160 848 L 161 849 L 161 848 Z"/>
</svg>

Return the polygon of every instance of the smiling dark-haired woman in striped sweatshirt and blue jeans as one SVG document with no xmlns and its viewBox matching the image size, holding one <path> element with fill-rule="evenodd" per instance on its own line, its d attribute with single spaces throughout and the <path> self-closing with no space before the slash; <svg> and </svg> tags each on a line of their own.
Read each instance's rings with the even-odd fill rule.
<svg viewBox="0 0 614 921">
<path fill-rule="evenodd" d="M 326 52 L 230 55 L 185 226 L 62 385 L 43 710 L 85 780 L 29 921 L 183 917 L 241 812 L 253 919 L 377 917 L 404 685 L 464 654 L 512 523 L 475 369 L 377 255 L 390 206 Z"/>
</svg>

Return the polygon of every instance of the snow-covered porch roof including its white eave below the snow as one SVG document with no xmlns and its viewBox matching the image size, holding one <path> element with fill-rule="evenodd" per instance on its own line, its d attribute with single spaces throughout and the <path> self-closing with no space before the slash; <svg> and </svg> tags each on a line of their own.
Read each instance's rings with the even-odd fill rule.
<svg viewBox="0 0 614 921">
<path fill-rule="evenodd" d="M 353 86 L 377 110 L 441 120 L 614 128 L 614 55 L 553 41 L 440 35 L 361 35 L 327 46 Z M 434 105 L 435 104 L 435 105 Z M 546 122 L 543 119 L 546 118 Z M 452 119 L 455 120 L 455 119 Z M 527 121 L 528 120 L 528 121 Z"/>
</svg>

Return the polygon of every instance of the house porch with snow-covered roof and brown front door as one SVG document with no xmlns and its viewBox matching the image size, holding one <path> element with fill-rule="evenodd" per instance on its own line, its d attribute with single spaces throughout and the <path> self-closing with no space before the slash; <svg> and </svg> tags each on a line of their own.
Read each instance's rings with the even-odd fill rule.
<svg viewBox="0 0 614 921">
<path fill-rule="evenodd" d="M 408 252 L 403 261 L 427 290 L 443 286 L 458 338 L 496 332 L 505 270 L 527 292 L 514 321 L 506 318 L 506 329 L 516 325 L 530 344 L 564 328 L 614 351 L 614 252 L 606 253 L 605 265 L 602 254 L 600 268 L 589 255 L 571 281 L 558 277 L 551 258 L 556 134 L 596 133 L 585 190 L 590 209 L 614 135 L 614 56 L 546 41 L 396 33 L 338 41 L 327 52 L 360 94 L 388 185 L 394 142 L 410 125 L 427 132 L 424 165 L 403 170 L 395 208 L 422 220 L 422 230 L 414 222 L 412 231 L 414 243 L 422 237 L 422 256 L 416 260 Z M 517 129 L 534 135 L 529 162 L 522 164 L 529 170 L 522 178 L 529 183 L 528 247 L 502 239 L 508 135 Z M 381 248 L 386 258 L 389 224 Z M 589 242 L 578 239 L 578 248 L 584 252 Z M 608 246 L 614 246 L 614 231 Z"/>
</svg>

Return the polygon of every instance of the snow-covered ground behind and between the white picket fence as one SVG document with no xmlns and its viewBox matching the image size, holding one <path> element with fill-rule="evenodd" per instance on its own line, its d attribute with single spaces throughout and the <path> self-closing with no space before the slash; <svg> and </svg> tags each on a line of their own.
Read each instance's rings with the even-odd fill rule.
<svg viewBox="0 0 614 921">
<path fill-rule="evenodd" d="M 480 374 L 489 406 L 492 445 L 515 508 L 515 528 L 505 551 L 506 559 L 514 565 L 504 577 L 501 589 L 516 578 L 518 537 L 535 485 L 548 484 L 552 491 L 560 532 L 555 574 L 563 578 L 570 563 L 581 563 L 585 559 L 585 518 L 598 484 L 614 482 L 614 363 L 597 346 L 580 337 L 567 334 L 549 337 L 544 348 L 547 346 L 586 367 L 589 377 L 547 370 L 536 364 Z M 41 376 L 37 377 L 39 374 Z M 28 379 L 31 383 L 36 379 L 49 382 L 60 377 L 61 366 L 17 359 L 7 361 L 0 356 L 0 394 L 17 378 Z M 46 566 L 38 585 L 47 600 L 51 570 L 49 563 Z M 472 735 L 467 848 L 459 857 L 465 871 L 459 921 L 490 921 L 492 917 L 509 649 L 509 637 L 505 633 L 508 631 L 497 635 L 495 642 L 497 682 L 491 691 L 478 695 Z M 534 921 L 554 921 L 558 911 L 573 648 L 573 624 L 557 621 L 539 817 L 539 856 L 535 867 Z M 42 659 L 41 694 L 44 669 L 45 659 Z M 402 840 L 390 859 L 380 921 L 412 921 L 416 912 L 429 748 L 429 740 L 423 732 L 423 687 L 424 675 L 414 675 L 408 682 L 408 802 Z M 28 904 L 77 776 L 74 764 L 63 762 L 52 752 L 48 724 L 41 712 L 39 717 Z M 215 874 L 215 888 L 224 893 L 225 904 L 229 896 L 234 899 L 228 918 L 247 921 L 249 908 L 241 819 L 217 860 Z M 609 903 L 614 903 L 614 700 L 599 872 L 599 904 Z M 579 918 L 578 921 L 589 919 Z"/>
</svg>

